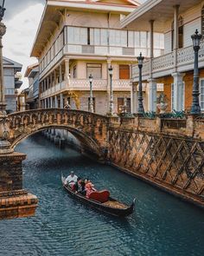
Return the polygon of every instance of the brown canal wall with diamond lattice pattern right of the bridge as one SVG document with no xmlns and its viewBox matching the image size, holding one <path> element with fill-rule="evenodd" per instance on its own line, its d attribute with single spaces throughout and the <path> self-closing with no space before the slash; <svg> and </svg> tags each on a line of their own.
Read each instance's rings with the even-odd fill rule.
<svg viewBox="0 0 204 256">
<path fill-rule="evenodd" d="M 204 141 L 189 136 L 183 125 L 174 129 L 159 118 L 115 120 L 109 129 L 109 161 L 204 207 Z"/>
</svg>

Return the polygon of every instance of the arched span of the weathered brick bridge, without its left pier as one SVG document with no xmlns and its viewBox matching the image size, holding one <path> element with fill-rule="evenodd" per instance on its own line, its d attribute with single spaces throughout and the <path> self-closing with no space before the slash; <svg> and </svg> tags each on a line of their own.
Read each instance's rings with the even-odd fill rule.
<svg viewBox="0 0 204 256">
<path fill-rule="evenodd" d="M 55 128 L 73 134 L 93 154 L 103 157 L 106 148 L 107 117 L 86 111 L 61 108 L 33 109 L 8 115 L 11 148 L 40 131 Z"/>
</svg>

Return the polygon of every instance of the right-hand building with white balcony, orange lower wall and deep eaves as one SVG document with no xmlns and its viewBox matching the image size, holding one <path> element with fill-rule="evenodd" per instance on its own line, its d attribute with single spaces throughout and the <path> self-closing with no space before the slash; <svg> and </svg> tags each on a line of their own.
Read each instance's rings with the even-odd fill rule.
<svg viewBox="0 0 204 256">
<path fill-rule="evenodd" d="M 155 98 L 156 84 L 162 82 L 168 102 L 167 109 L 189 111 L 194 76 L 191 36 L 196 29 L 204 36 L 204 1 L 147 1 L 127 16 L 122 26 L 164 33 L 164 55 L 156 57 L 152 54 L 143 63 L 143 82 L 150 82 L 150 101 Z M 203 39 L 199 53 L 201 111 L 204 111 Z M 132 77 L 133 81 L 138 82 L 137 65 L 132 68 Z M 151 109 L 156 110 L 156 104 L 152 104 Z"/>
</svg>

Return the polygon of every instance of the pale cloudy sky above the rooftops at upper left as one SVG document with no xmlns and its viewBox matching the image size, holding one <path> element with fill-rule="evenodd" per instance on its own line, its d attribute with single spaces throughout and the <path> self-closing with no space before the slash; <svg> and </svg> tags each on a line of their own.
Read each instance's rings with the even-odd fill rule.
<svg viewBox="0 0 204 256">
<path fill-rule="evenodd" d="M 29 56 L 45 2 L 46 0 L 5 0 L 3 23 L 7 32 L 3 36 L 3 56 L 22 63 L 23 88 L 29 85 L 28 80 L 23 78 L 27 66 L 37 62 Z M 143 2 L 145 0 L 140 1 Z"/>
</svg>

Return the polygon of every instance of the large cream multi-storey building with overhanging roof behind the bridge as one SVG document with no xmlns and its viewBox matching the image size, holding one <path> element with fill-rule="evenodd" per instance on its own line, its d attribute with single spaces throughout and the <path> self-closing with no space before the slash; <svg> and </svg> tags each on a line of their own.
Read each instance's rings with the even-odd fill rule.
<svg viewBox="0 0 204 256">
<path fill-rule="evenodd" d="M 129 110 L 136 107 L 136 102 L 131 104 L 131 64 L 140 51 L 150 56 L 150 35 L 122 30 L 120 22 L 138 5 L 122 0 L 47 1 L 31 51 L 39 59 L 41 108 L 64 108 L 69 102 L 72 108 L 88 110 L 92 74 L 94 111 L 106 114 L 111 66 L 114 112 L 125 100 Z M 163 35 L 156 36 L 163 42 Z M 155 56 L 160 56 L 163 43 L 157 45 Z"/>
</svg>

